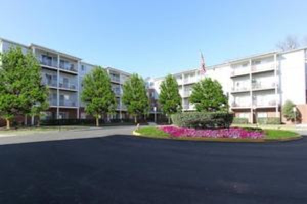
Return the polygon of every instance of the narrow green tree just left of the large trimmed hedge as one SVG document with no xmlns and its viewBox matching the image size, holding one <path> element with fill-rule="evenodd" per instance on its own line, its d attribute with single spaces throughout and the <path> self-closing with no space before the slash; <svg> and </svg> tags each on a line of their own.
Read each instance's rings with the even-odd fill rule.
<svg viewBox="0 0 307 204">
<path fill-rule="evenodd" d="M 170 115 L 181 110 L 181 97 L 176 79 L 171 74 L 167 75 L 160 85 L 160 90 L 159 104 L 170 123 Z"/>
</svg>

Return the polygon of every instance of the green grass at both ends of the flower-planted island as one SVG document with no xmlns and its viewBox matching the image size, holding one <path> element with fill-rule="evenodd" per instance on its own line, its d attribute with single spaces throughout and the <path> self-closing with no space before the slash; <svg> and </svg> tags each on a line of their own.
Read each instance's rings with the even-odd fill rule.
<svg viewBox="0 0 307 204">
<path fill-rule="evenodd" d="M 169 139 L 170 135 L 167 133 L 164 133 L 163 131 L 159 130 L 156 126 L 147 126 L 147 127 L 141 127 L 137 133 L 141 134 L 141 136 L 151 137 L 151 138 L 165 138 Z M 284 131 L 284 130 L 272 130 L 272 129 L 266 129 L 265 132 L 265 139 L 282 139 L 282 138 L 294 138 L 299 137 L 300 135 L 291 132 L 291 131 Z M 184 138 L 178 138 L 178 139 L 184 139 Z"/>
</svg>

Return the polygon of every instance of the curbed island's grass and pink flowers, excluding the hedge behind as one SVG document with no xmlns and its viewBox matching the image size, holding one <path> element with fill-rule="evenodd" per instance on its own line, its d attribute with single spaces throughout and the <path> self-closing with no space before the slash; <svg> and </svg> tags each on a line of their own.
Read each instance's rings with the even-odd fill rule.
<svg viewBox="0 0 307 204">
<path fill-rule="evenodd" d="M 299 139 L 301 136 L 295 132 L 282 130 L 262 130 L 242 127 L 230 127 L 229 129 L 197 130 L 187 127 L 147 126 L 134 132 L 135 135 L 179 140 L 204 140 L 204 141 L 288 141 Z"/>
</svg>

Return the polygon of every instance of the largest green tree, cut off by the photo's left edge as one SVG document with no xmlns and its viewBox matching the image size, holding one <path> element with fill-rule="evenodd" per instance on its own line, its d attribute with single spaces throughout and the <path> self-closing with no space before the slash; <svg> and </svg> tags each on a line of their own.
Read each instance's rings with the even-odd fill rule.
<svg viewBox="0 0 307 204">
<path fill-rule="evenodd" d="M 0 116 L 9 129 L 14 116 L 26 115 L 33 106 L 45 103 L 48 90 L 41 83 L 41 68 L 32 52 L 23 54 L 20 47 L 11 47 L 0 55 L 0 61 Z"/>
</svg>

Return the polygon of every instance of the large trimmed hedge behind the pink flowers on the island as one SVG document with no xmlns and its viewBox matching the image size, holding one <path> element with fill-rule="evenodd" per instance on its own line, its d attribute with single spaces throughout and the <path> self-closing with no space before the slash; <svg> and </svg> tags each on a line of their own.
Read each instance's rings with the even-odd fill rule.
<svg viewBox="0 0 307 204">
<path fill-rule="evenodd" d="M 195 129 L 229 127 L 233 115 L 225 112 L 191 112 L 177 113 L 171 116 L 173 124 L 179 127 L 192 127 Z"/>
</svg>

